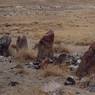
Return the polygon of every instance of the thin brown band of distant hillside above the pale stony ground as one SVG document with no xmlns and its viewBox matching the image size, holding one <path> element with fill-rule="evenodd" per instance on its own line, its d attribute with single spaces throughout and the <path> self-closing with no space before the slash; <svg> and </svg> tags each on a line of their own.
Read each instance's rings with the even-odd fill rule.
<svg viewBox="0 0 95 95">
<path fill-rule="evenodd" d="M 0 0 L 0 5 L 32 5 L 32 4 L 64 4 L 64 3 L 92 3 L 95 0 Z"/>
</svg>

